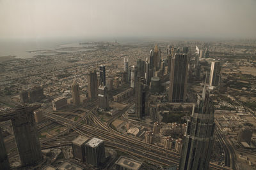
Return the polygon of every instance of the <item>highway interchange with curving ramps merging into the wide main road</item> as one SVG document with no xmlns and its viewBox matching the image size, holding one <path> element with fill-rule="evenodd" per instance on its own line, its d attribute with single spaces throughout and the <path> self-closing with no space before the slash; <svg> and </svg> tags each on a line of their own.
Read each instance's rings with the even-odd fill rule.
<svg viewBox="0 0 256 170">
<path fill-rule="evenodd" d="M 95 103 L 92 105 L 94 104 Z M 102 122 L 102 120 L 98 117 L 95 108 L 92 108 L 91 110 L 84 108 L 88 107 L 83 106 L 83 108 L 77 109 L 84 111 L 84 115 L 70 112 L 70 115 L 76 115 L 80 117 L 77 121 L 70 120 L 70 118 L 66 118 L 60 114 L 49 111 L 45 111 L 44 117 L 52 120 L 52 122 L 65 125 L 68 127 L 66 131 L 70 131 L 70 129 L 72 129 L 73 131 L 76 131 L 78 134 L 83 136 L 104 139 L 106 146 L 111 146 L 117 150 L 120 150 L 121 152 L 129 153 L 136 157 L 149 160 L 150 162 L 156 162 L 162 166 L 172 166 L 173 164 L 179 165 L 179 153 L 166 150 L 156 145 L 150 145 L 136 138 L 124 136 L 123 134 L 116 132 L 114 129 L 111 129 L 111 122 L 122 115 L 129 108 L 128 106 L 125 107 L 124 110 L 120 110 L 118 113 L 116 113 L 116 115 L 110 118 L 107 123 Z M 88 119 L 93 122 L 93 125 L 81 123 L 81 120 Z M 47 139 L 47 141 L 49 140 Z M 47 141 L 44 141 L 43 143 L 46 143 Z M 63 143 L 63 145 L 65 144 L 67 143 Z M 210 167 L 214 169 L 230 169 L 230 167 L 222 167 L 212 163 L 210 164 Z"/>
</svg>

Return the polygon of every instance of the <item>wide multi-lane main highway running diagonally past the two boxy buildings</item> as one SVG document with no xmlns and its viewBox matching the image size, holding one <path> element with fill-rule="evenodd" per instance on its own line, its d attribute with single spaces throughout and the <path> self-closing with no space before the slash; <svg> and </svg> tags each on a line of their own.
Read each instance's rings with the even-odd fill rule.
<svg viewBox="0 0 256 170">
<path fill-rule="evenodd" d="M 90 117 L 95 117 L 95 115 L 93 115 L 94 114 L 90 115 Z M 179 164 L 179 153 L 166 150 L 156 145 L 144 143 L 143 141 L 140 141 L 136 138 L 124 136 L 122 134 L 114 132 L 113 129 L 107 129 L 108 126 L 106 124 L 99 125 L 100 127 L 103 127 L 102 129 L 100 127 L 92 127 L 90 125 L 77 123 L 68 118 L 54 115 L 52 113 L 45 113 L 45 117 L 53 120 L 54 122 L 58 122 L 59 124 L 68 125 L 74 131 L 78 130 L 79 134 L 104 139 L 107 146 L 112 146 L 122 152 L 130 153 L 137 157 L 141 157 L 156 162 L 158 164 L 162 164 L 164 166 Z M 96 121 L 96 118 L 94 119 Z M 99 122 L 96 122 L 96 124 L 99 124 Z M 216 169 L 230 169 L 229 167 L 221 167 L 216 164 L 211 164 L 210 166 Z"/>
</svg>

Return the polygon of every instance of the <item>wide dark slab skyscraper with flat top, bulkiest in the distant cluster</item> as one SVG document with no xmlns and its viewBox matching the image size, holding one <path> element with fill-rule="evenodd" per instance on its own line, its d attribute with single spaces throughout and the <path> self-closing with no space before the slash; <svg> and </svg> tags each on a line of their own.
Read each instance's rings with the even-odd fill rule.
<svg viewBox="0 0 256 170">
<path fill-rule="evenodd" d="M 175 53 L 171 60 L 169 101 L 186 100 L 188 81 L 188 55 Z"/>
</svg>

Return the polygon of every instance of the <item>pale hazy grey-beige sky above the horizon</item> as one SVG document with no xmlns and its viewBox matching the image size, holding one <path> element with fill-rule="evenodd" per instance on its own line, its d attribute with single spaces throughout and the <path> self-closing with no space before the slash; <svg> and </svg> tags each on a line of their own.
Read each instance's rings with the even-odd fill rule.
<svg viewBox="0 0 256 170">
<path fill-rule="evenodd" d="M 0 39 L 256 38 L 256 0 L 0 0 Z"/>
</svg>

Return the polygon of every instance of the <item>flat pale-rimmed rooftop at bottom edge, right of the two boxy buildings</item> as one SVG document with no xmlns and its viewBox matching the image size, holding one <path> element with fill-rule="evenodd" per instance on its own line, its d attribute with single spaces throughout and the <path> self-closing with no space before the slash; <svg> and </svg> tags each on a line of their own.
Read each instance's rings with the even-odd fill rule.
<svg viewBox="0 0 256 170">
<path fill-rule="evenodd" d="M 120 156 L 118 158 L 118 160 L 116 160 L 115 164 L 125 167 L 127 169 L 138 170 L 138 169 L 140 169 L 142 162 L 139 162 L 137 160 L 130 159 L 127 157 Z"/>
</svg>

